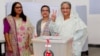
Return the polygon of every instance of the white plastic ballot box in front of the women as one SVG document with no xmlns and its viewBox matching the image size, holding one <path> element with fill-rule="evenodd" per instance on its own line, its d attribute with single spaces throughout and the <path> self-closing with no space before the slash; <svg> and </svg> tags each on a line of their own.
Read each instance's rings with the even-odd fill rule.
<svg viewBox="0 0 100 56">
<path fill-rule="evenodd" d="M 72 38 L 61 36 L 41 36 L 32 39 L 34 56 L 45 56 L 46 39 L 50 41 L 52 56 L 72 56 Z"/>
</svg>

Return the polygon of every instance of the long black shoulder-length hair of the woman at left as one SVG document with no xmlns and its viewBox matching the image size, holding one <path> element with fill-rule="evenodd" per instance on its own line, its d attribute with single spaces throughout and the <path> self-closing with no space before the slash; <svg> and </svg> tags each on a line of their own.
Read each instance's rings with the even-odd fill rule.
<svg viewBox="0 0 100 56">
<path fill-rule="evenodd" d="M 13 3 L 13 5 L 12 5 L 12 10 L 11 10 L 11 14 L 10 14 L 11 16 L 16 16 L 16 12 L 15 12 L 15 10 L 14 10 L 16 4 L 20 4 L 20 5 L 21 5 L 20 2 L 14 2 L 14 3 Z M 22 5 L 21 5 L 21 6 L 22 6 Z M 23 9 L 22 9 L 22 13 L 20 14 L 20 17 L 22 18 L 23 21 L 26 21 L 26 16 L 25 16 L 24 13 L 23 13 Z"/>
</svg>

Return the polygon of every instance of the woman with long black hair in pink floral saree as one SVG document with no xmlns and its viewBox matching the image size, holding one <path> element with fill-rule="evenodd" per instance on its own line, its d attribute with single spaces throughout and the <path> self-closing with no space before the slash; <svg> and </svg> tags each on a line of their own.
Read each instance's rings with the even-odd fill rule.
<svg viewBox="0 0 100 56">
<path fill-rule="evenodd" d="M 23 13 L 20 2 L 14 2 L 11 14 L 4 19 L 6 56 L 30 56 L 33 26 Z"/>
</svg>

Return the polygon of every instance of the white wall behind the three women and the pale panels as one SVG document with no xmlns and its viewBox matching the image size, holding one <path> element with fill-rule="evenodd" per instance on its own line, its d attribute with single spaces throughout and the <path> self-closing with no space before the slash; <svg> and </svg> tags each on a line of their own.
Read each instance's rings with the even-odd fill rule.
<svg viewBox="0 0 100 56">
<path fill-rule="evenodd" d="M 12 1 L 24 1 L 24 2 L 39 2 L 44 4 L 58 4 L 65 0 L 0 0 L 0 40 L 4 39 L 3 37 L 3 23 L 2 19 L 5 17 L 5 4 L 6 2 L 12 2 Z M 87 6 L 87 23 L 88 23 L 88 38 L 90 44 L 100 44 L 100 14 L 97 15 L 90 15 L 89 14 L 89 0 L 69 0 L 72 5 L 86 5 Z"/>
</svg>

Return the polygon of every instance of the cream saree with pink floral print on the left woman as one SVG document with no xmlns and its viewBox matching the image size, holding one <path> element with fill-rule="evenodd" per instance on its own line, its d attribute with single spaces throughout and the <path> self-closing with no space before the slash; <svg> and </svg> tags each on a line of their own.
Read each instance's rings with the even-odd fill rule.
<svg viewBox="0 0 100 56">
<path fill-rule="evenodd" d="M 15 20 L 12 16 L 6 17 L 4 21 L 4 31 L 6 25 L 9 25 L 9 39 L 13 52 L 6 51 L 6 56 L 30 56 L 32 52 L 31 38 L 33 34 L 33 27 L 30 22 L 22 21 L 22 19 Z M 7 46 L 6 46 L 7 48 Z"/>
</svg>

